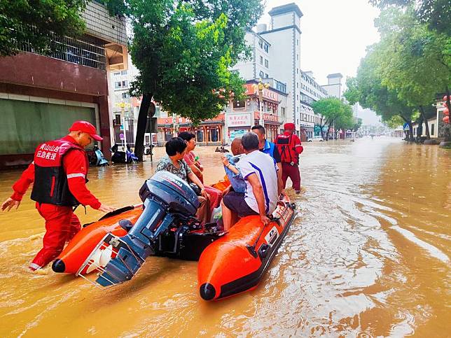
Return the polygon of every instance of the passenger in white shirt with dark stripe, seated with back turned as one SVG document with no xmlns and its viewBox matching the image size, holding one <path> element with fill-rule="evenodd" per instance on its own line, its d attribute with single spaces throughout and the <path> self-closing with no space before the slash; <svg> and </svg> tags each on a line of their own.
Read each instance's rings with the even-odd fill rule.
<svg viewBox="0 0 451 338">
<path fill-rule="evenodd" d="M 224 230 L 235 224 L 235 214 L 240 217 L 259 215 L 263 224 L 268 225 L 270 215 L 276 209 L 279 192 L 277 170 L 272 157 L 259 151 L 258 136 L 247 132 L 242 136 L 242 146 L 246 156 L 239 163 L 240 171 L 246 181 L 246 192 L 228 192 L 221 202 Z"/>
</svg>

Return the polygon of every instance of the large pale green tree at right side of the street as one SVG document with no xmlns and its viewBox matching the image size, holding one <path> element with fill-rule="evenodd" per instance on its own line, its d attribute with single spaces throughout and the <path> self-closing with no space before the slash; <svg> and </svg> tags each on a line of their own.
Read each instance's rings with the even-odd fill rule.
<svg viewBox="0 0 451 338">
<path fill-rule="evenodd" d="M 396 115 L 410 126 L 412 120 L 424 121 L 435 113 L 432 104 L 438 92 L 451 83 L 450 37 L 427 29 L 413 8 L 387 8 L 376 20 L 381 41 L 367 50 L 356 78 L 347 79 L 345 97 L 359 102 L 395 122 Z M 429 138 L 429 127 L 426 128 Z"/>
</svg>

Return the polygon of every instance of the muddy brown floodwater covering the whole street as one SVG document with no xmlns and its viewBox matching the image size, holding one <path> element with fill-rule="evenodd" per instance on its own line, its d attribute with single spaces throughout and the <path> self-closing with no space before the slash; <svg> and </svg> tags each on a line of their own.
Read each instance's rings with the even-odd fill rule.
<svg viewBox="0 0 451 338">
<path fill-rule="evenodd" d="M 305 191 L 287 190 L 299 216 L 279 253 L 256 290 L 218 302 L 198 296 L 197 262 L 149 258 L 109 290 L 29 273 L 44 222 L 28 192 L 0 213 L 0 337 L 450 335 L 450 150 L 377 138 L 304 146 Z M 207 183 L 223 176 L 220 153 L 195 152 Z M 105 204 L 137 204 L 155 167 L 91 168 L 88 188 Z M 20 172 L 1 173 L 2 200 Z"/>
</svg>

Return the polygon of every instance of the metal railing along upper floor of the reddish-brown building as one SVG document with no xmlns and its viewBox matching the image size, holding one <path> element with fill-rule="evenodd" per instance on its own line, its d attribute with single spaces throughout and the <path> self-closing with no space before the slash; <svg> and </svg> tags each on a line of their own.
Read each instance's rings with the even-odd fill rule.
<svg viewBox="0 0 451 338">
<path fill-rule="evenodd" d="M 55 50 L 55 52 L 50 52 L 50 48 L 36 49 L 29 42 L 22 43 L 22 45 L 18 46 L 18 49 L 74 64 L 102 70 L 106 69 L 105 48 L 103 45 L 78 40 L 69 36 L 58 36 L 53 32 L 50 32 L 48 38 L 50 38 L 52 45 L 51 49 Z"/>
</svg>

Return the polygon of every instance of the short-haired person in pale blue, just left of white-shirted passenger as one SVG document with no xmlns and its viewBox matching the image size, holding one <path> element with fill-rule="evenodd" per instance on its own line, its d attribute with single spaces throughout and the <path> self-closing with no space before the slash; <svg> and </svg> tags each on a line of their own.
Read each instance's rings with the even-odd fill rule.
<svg viewBox="0 0 451 338">
<path fill-rule="evenodd" d="M 232 154 L 225 154 L 222 157 L 225 174 L 227 174 L 228 181 L 232 188 L 236 192 L 244 193 L 246 191 L 246 182 L 241 174 L 240 169 L 237 167 L 238 161 L 244 155 L 244 148 L 241 143 L 241 137 L 235 137 L 230 145 Z"/>
</svg>

